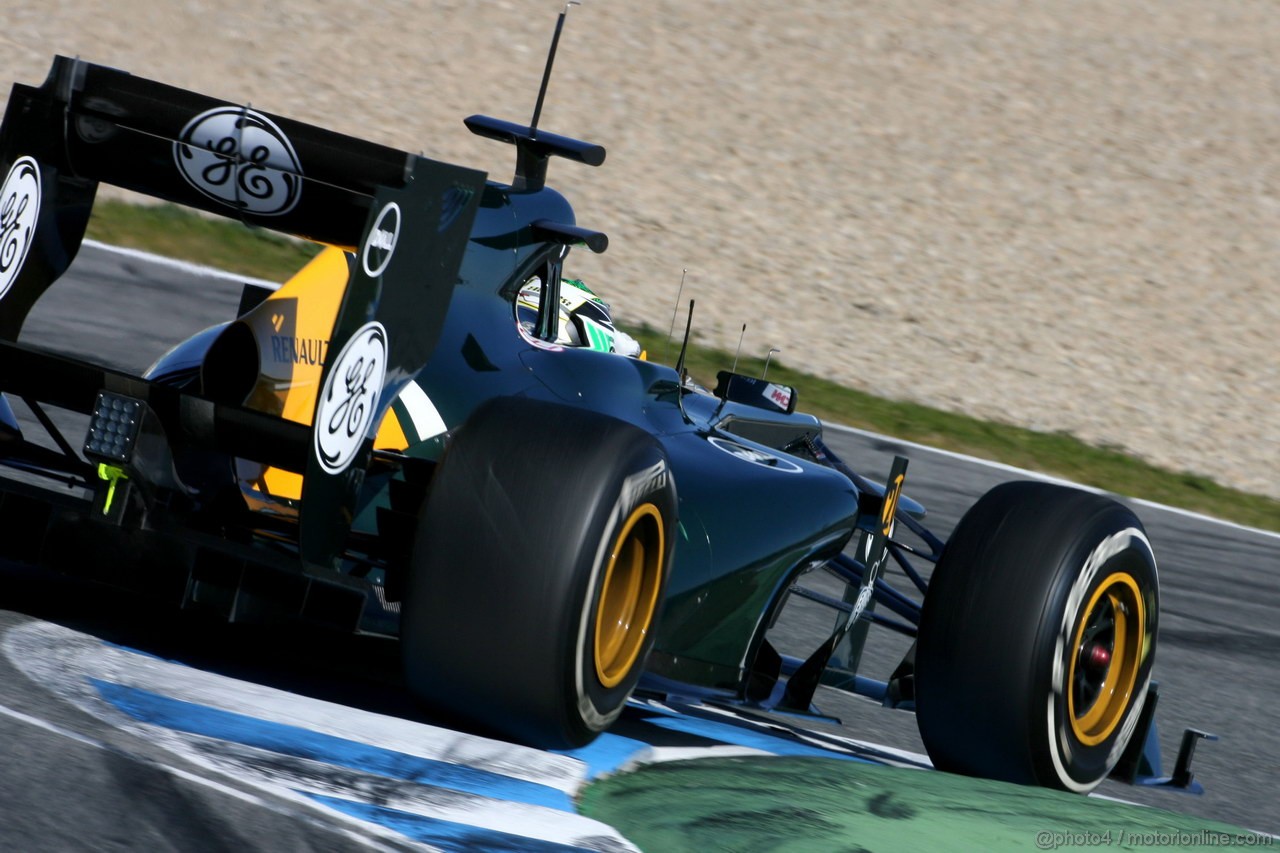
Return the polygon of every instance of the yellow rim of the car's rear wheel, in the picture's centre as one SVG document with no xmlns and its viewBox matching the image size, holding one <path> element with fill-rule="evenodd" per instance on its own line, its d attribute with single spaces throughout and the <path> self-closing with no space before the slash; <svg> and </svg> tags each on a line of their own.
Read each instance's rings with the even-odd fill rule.
<svg viewBox="0 0 1280 853">
<path fill-rule="evenodd" d="M 617 686 L 640 657 L 658 610 L 664 546 L 662 514 L 643 503 L 609 551 L 595 608 L 595 675 L 605 688 Z"/>
</svg>

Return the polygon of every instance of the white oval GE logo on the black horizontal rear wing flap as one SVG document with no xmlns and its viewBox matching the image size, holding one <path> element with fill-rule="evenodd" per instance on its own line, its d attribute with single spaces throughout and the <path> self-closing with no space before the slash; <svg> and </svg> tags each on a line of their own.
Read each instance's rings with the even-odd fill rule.
<svg viewBox="0 0 1280 853">
<path fill-rule="evenodd" d="M 216 106 L 187 122 L 173 159 L 192 187 L 244 213 L 279 216 L 302 195 L 293 143 L 271 119 L 244 106 Z"/>
</svg>

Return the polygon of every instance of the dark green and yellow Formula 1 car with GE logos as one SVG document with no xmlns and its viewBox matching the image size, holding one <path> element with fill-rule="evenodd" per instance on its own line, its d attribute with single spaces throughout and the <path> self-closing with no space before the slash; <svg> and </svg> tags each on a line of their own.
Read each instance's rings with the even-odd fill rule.
<svg viewBox="0 0 1280 853">
<path fill-rule="evenodd" d="M 557 343 L 566 256 L 608 241 L 548 161 L 605 155 L 538 113 L 466 119 L 515 146 L 504 184 L 79 60 L 15 85 L 0 556 L 236 621 L 398 634 L 426 706 L 548 748 L 590 742 L 637 685 L 801 713 L 828 685 L 914 708 L 943 770 L 1078 792 L 1156 775 L 1138 519 L 1012 483 L 943 546 L 902 493 L 906 460 L 868 482 L 794 388 L 724 371 L 705 392 L 682 359 Z M 142 375 L 18 343 L 100 182 L 325 248 Z M 49 407 L 82 419 L 79 447 Z M 808 593 L 835 628 L 783 656 L 765 633 L 814 571 L 845 585 Z M 859 675 L 868 625 L 914 638 L 884 680 Z"/>
</svg>

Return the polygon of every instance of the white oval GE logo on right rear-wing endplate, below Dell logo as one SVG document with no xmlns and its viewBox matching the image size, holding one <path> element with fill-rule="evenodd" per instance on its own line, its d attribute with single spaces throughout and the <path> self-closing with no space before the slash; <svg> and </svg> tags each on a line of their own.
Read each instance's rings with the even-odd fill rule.
<svg viewBox="0 0 1280 853">
<path fill-rule="evenodd" d="M 351 465 L 378 410 L 387 378 L 387 329 L 360 327 L 338 353 L 320 392 L 312 429 L 316 461 L 329 474 Z"/>
</svg>

